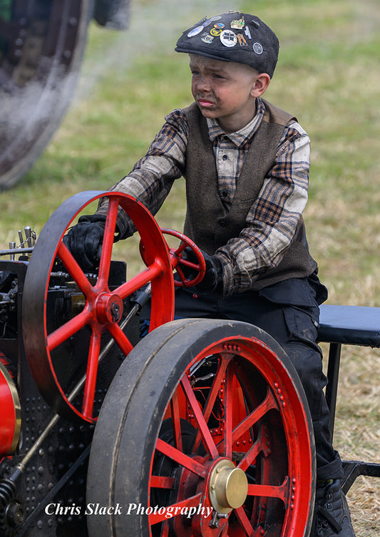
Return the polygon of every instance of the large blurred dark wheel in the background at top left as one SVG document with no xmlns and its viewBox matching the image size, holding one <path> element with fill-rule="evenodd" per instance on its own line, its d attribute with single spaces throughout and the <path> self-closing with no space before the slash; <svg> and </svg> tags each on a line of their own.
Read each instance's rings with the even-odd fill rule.
<svg viewBox="0 0 380 537">
<path fill-rule="evenodd" d="M 0 2 L 0 190 L 45 148 L 71 100 L 92 0 Z"/>
</svg>

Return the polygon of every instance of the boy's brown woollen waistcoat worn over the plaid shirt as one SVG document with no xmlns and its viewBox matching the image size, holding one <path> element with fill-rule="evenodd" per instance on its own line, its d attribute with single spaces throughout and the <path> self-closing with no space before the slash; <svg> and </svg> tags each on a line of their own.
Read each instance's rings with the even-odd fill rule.
<svg viewBox="0 0 380 537">
<path fill-rule="evenodd" d="M 265 176 L 274 164 L 275 153 L 284 126 L 292 116 L 265 103 L 265 116 L 245 156 L 235 197 L 230 210 L 226 210 L 217 190 L 217 169 L 207 122 L 195 103 L 185 108 L 189 138 L 186 150 L 187 210 L 184 232 L 205 252 L 212 255 L 218 247 L 237 237 L 247 227 L 247 213 L 260 193 Z M 317 268 L 309 255 L 304 222 L 301 218 L 297 230 L 277 267 L 268 268 L 252 285 L 259 290 L 292 277 L 307 277 Z"/>
</svg>

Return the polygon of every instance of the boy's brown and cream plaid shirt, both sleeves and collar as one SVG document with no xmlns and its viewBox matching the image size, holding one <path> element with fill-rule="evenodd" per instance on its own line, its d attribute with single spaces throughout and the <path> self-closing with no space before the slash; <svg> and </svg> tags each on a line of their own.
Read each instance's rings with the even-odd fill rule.
<svg viewBox="0 0 380 537">
<path fill-rule="evenodd" d="M 207 118 L 220 198 L 226 210 L 232 205 L 245 155 L 264 112 L 259 98 L 256 116 L 235 133 L 225 133 L 217 121 Z M 153 215 L 163 204 L 174 180 L 185 170 L 189 134 L 185 113 L 175 110 L 165 120 L 148 153 L 113 187 L 138 198 Z M 246 227 L 215 252 L 223 265 L 225 296 L 250 289 L 258 275 L 282 259 L 307 203 L 309 153 L 307 133 L 291 121 L 284 128 L 274 165 L 247 214 Z"/>
</svg>

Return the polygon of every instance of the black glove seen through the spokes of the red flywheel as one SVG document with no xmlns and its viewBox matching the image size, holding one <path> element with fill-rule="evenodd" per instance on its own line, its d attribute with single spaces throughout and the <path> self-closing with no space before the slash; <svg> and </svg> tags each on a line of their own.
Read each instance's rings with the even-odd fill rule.
<svg viewBox="0 0 380 537">
<path fill-rule="evenodd" d="M 92 272 L 98 267 L 105 226 L 103 215 L 83 215 L 63 237 L 64 244 L 84 272 Z"/>
</svg>

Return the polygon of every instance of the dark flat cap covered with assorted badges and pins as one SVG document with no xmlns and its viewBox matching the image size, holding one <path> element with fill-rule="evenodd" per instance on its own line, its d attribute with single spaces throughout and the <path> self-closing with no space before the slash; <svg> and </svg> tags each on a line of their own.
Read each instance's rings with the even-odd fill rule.
<svg viewBox="0 0 380 537">
<path fill-rule="evenodd" d="M 220 61 L 245 63 L 272 78 L 279 40 L 257 16 L 228 11 L 205 17 L 185 30 L 175 50 Z"/>
</svg>

